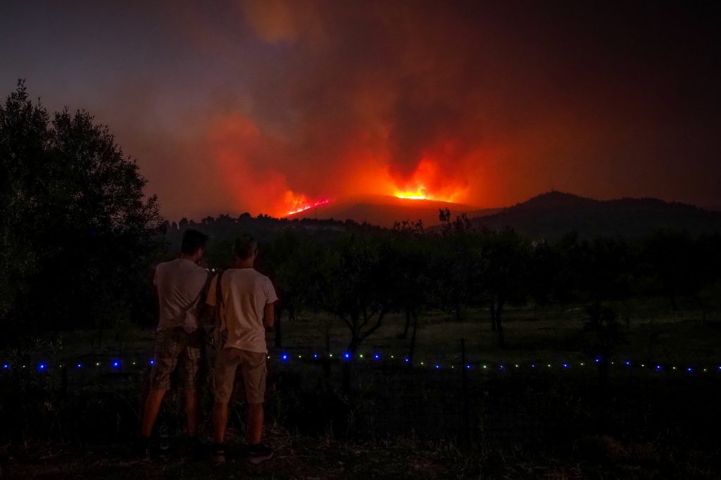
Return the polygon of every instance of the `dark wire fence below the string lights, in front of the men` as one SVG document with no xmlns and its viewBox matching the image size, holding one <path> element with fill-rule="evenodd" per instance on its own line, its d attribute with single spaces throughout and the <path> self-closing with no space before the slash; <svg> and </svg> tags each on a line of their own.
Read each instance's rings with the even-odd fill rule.
<svg viewBox="0 0 721 480">
<path fill-rule="evenodd" d="M 711 426 L 721 425 L 721 373 L 711 365 L 689 371 L 614 360 L 609 381 L 602 384 L 593 358 L 471 364 L 459 350 L 456 360 L 443 365 L 411 364 L 387 352 L 363 357 L 275 352 L 268 359 L 267 421 L 308 435 L 469 444 L 564 443 L 599 432 L 630 437 L 675 432 L 713 441 Z M 58 430 L 90 437 L 134 435 L 152 362 L 141 355 L 98 354 L 6 360 L 0 414 L 5 425 L 50 436 Z M 200 385 L 206 424 L 209 376 L 206 364 Z M 180 433 L 184 422 L 176 393 L 168 396 L 161 421 Z M 241 381 L 231 403 L 242 411 Z M 244 427 L 241 414 L 231 422 Z"/>
</svg>

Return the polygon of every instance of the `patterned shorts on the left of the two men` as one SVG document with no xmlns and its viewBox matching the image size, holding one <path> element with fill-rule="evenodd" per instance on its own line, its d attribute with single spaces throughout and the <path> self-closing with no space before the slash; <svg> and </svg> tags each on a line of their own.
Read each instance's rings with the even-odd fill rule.
<svg viewBox="0 0 721 480">
<path fill-rule="evenodd" d="M 155 358 L 150 373 L 153 390 L 170 388 L 170 378 L 178 363 L 182 366 L 181 386 L 193 390 L 198 383 L 200 352 L 203 345 L 203 331 L 187 333 L 182 328 L 161 330 L 155 344 Z"/>
</svg>

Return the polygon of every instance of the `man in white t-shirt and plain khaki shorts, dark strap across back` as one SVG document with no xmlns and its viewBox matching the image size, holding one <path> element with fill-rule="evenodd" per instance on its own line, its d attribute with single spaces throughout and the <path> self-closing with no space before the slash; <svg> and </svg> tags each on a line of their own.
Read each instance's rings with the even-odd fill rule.
<svg viewBox="0 0 721 480">
<path fill-rule="evenodd" d="M 273 326 L 273 303 L 278 300 L 273 283 L 254 268 L 257 242 L 243 235 L 235 241 L 235 265 L 216 275 L 208 288 L 206 303 L 219 308 L 221 330 L 227 339 L 221 345 L 213 370 L 213 456 L 225 460 L 224 438 L 228 423 L 228 402 L 233 391 L 236 369 L 243 372 L 247 399 L 248 460 L 260 463 L 273 456 L 273 450 L 260 443 L 265 401 L 265 329 Z M 218 277 L 220 285 L 218 286 Z"/>
</svg>

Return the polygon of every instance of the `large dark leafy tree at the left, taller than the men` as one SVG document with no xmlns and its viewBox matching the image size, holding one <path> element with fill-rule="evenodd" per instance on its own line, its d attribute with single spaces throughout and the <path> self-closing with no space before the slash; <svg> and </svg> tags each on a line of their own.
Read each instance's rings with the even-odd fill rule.
<svg viewBox="0 0 721 480">
<path fill-rule="evenodd" d="M 50 115 L 21 81 L 0 106 L 0 171 L 7 331 L 130 318 L 162 246 L 162 218 L 107 127 L 84 111 Z"/>
</svg>

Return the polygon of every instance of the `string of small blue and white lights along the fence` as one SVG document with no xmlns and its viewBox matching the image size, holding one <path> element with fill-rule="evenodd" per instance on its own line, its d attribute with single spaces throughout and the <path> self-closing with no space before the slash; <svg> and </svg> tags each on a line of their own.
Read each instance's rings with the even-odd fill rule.
<svg viewBox="0 0 721 480">
<path fill-rule="evenodd" d="M 490 363 L 490 362 L 479 362 L 479 363 L 466 363 L 465 365 L 460 365 L 459 363 L 448 363 L 448 362 L 426 362 L 426 361 L 416 361 L 413 362 L 410 357 L 404 357 L 404 356 L 398 356 L 398 355 L 383 355 L 380 352 L 373 352 L 371 355 L 364 355 L 363 353 L 353 354 L 351 352 L 342 352 L 339 355 L 333 355 L 332 353 L 327 354 L 320 354 L 320 353 L 312 353 L 310 355 L 302 355 L 302 354 L 296 354 L 291 355 L 288 352 L 282 352 L 278 355 L 268 355 L 267 358 L 269 360 L 273 360 L 273 357 L 275 357 L 275 360 L 278 360 L 280 364 L 290 364 L 295 363 L 298 361 L 318 361 L 318 360 L 335 360 L 342 363 L 364 363 L 367 365 L 389 365 L 389 364 L 395 364 L 395 365 L 407 365 L 412 368 L 425 368 L 428 370 L 460 370 L 461 368 L 465 368 L 466 370 L 479 370 L 481 372 L 503 372 L 504 370 L 549 370 L 549 369 L 555 369 L 555 370 L 573 370 L 578 368 L 585 368 L 588 365 L 591 366 L 598 366 L 600 367 L 603 363 L 602 357 L 595 357 L 591 359 L 588 362 L 542 362 L 539 360 L 533 360 L 533 361 L 525 361 L 525 362 L 518 362 L 518 363 Z M 154 359 L 150 360 L 123 360 L 120 358 L 115 358 L 110 361 L 68 361 L 63 363 L 58 363 L 58 365 L 51 365 L 47 362 L 39 362 L 39 363 L 12 363 L 12 362 L 4 362 L 2 363 L 2 371 L 3 372 L 9 372 L 12 370 L 15 370 L 17 368 L 23 370 L 37 370 L 37 372 L 43 373 L 50 368 L 57 366 L 58 368 L 74 368 L 75 370 L 84 370 L 84 369 L 97 369 L 97 368 L 110 368 L 111 370 L 120 370 L 121 368 L 128 368 L 128 367 L 152 367 L 155 364 Z M 651 371 L 657 371 L 657 372 L 684 372 L 684 373 L 710 373 L 710 372 L 717 372 L 721 373 L 721 364 L 718 365 L 706 365 L 706 366 L 679 366 L 679 365 L 672 365 L 669 363 L 662 363 L 662 362 L 634 362 L 632 360 L 611 360 L 610 362 L 606 363 L 606 365 L 611 365 L 614 367 L 624 368 L 627 370 L 631 369 L 642 369 L 642 370 L 651 370 Z"/>
</svg>

